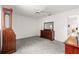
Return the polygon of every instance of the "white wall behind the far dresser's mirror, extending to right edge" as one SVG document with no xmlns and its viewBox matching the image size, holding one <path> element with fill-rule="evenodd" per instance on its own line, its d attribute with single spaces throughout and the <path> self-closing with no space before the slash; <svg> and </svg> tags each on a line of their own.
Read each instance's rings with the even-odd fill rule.
<svg viewBox="0 0 79 59">
<path fill-rule="evenodd" d="M 79 9 L 73 9 L 42 18 L 40 19 L 40 29 L 43 29 L 44 22 L 54 21 L 55 40 L 65 42 L 67 40 L 68 17 L 72 15 L 79 15 Z"/>
</svg>

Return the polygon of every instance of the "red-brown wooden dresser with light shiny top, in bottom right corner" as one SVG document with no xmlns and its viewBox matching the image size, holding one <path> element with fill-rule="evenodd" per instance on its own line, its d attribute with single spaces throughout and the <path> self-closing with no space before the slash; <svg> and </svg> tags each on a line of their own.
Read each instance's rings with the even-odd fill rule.
<svg viewBox="0 0 79 59">
<path fill-rule="evenodd" d="M 76 37 L 70 36 L 65 42 L 65 54 L 79 54 L 79 45 Z"/>
</svg>

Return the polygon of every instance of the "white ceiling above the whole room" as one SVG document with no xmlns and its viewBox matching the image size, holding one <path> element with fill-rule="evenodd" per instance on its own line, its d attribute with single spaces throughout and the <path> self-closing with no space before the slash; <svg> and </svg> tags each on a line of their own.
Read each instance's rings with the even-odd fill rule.
<svg viewBox="0 0 79 59">
<path fill-rule="evenodd" d="M 59 12 L 79 8 L 78 5 L 11 5 L 14 12 L 32 18 L 42 18 Z"/>
</svg>

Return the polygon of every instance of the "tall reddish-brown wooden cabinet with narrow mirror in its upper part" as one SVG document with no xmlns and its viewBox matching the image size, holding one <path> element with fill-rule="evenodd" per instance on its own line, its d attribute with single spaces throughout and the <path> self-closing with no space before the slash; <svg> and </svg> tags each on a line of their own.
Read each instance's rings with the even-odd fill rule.
<svg viewBox="0 0 79 59">
<path fill-rule="evenodd" d="M 12 29 L 11 8 L 2 9 L 2 53 L 13 53 L 16 51 L 16 35 Z"/>
</svg>

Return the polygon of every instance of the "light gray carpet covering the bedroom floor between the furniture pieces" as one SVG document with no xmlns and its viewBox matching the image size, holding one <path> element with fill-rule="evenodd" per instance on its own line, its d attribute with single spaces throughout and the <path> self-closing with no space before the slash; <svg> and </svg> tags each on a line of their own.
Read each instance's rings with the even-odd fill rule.
<svg viewBox="0 0 79 59">
<path fill-rule="evenodd" d="M 17 51 L 14 54 L 64 54 L 64 44 L 40 37 L 17 40 Z"/>
</svg>

